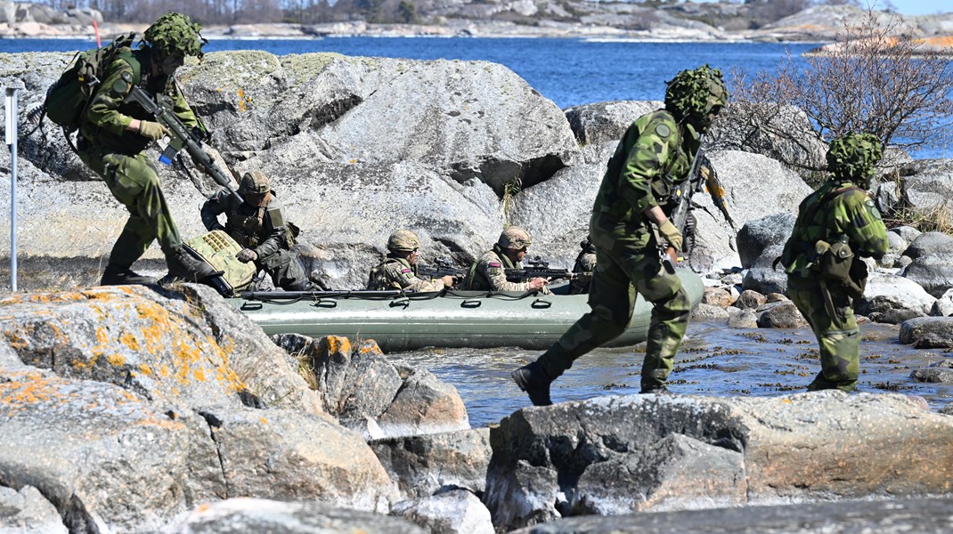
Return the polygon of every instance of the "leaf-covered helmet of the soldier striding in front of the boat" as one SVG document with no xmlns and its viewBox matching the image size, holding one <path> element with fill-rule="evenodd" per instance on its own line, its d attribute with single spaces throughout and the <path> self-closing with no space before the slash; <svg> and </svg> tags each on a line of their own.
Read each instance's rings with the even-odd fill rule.
<svg viewBox="0 0 953 534">
<path fill-rule="evenodd" d="M 700 121 L 702 129 L 708 128 L 708 114 L 715 108 L 728 105 L 728 89 L 721 81 L 720 69 L 707 64 L 698 69 L 685 69 L 667 82 L 665 109 L 679 118 L 691 117 Z"/>
</svg>

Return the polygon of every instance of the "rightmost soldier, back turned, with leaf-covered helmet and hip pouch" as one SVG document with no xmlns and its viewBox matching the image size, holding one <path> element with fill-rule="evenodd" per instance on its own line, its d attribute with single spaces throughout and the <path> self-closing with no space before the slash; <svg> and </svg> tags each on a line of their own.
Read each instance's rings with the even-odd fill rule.
<svg viewBox="0 0 953 534">
<path fill-rule="evenodd" d="M 887 252 L 887 230 L 867 192 L 881 156 L 880 140 L 869 133 L 851 133 L 831 142 L 830 178 L 801 202 L 784 246 L 781 263 L 787 272 L 788 294 L 811 325 L 821 349 L 821 372 L 808 390 L 850 391 L 857 385 L 861 330 L 851 299 L 862 295 L 866 266 L 860 258 L 853 259 L 850 280 L 844 283 L 825 274 L 817 251 L 840 243 L 850 247 L 854 256 L 879 259 Z"/>
</svg>

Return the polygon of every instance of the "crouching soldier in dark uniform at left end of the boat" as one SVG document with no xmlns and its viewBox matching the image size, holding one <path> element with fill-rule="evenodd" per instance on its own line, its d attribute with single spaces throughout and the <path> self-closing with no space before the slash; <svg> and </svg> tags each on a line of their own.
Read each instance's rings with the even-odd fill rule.
<svg viewBox="0 0 953 534">
<path fill-rule="evenodd" d="M 264 269 L 274 287 L 286 291 L 314 290 L 316 287 L 308 280 L 297 255 L 290 250 L 294 231 L 274 200 L 268 176 L 260 170 L 246 172 L 238 184 L 238 194 L 245 202 L 239 203 L 225 188 L 209 197 L 202 205 L 202 224 L 209 230 L 220 229 L 231 235 L 243 247 L 235 258 L 254 262 L 258 270 Z M 226 216 L 224 227 L 218 222 L 221 213 Z"/>
</svg>

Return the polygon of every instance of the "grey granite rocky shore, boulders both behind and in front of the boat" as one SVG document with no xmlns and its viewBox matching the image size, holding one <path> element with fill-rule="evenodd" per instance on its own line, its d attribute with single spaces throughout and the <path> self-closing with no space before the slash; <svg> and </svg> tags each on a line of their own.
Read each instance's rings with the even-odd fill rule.
<svg viewBox="0 0 953 534">
<path fill-rule="evenodd" d="M 26 108 L 70 58 L 0 54 L 0 83 L 23 80 Z M 272 176 L 302 228 L 298 252 L 332 287 L 362 287 L 397 227 L 416 230 L 425 259 L 465 265 L 516 224 L 535 253 L 569 266 L 618 136 L 659 106 L 558 109 L 496 64 L 338 54 L 213 52 L 181 80 L 230 167 Z M 695 320 L 794 326 L 770 262 L 810 188 L 746 145 L 742 125 L 720 129 L 709 157 L 740 231 L 696 197 L 691 264 L 711 287 Z M 471 428 L 453 386 L 372 341 L 269 338 L 208 287 L 92 287 L 125 209 L 49 124 L 20 141 L 18 165 L 27 291 L 0 295 L 0 528 L 953 528 L 948 405 L 841 392 L 609 396 Z M 877 195 L 888 208 L 953 195 L 951 161 L 899 158 L 887 172 Z M 160 175 L 182 233 L 203 231 L 213 183 Z M 892 228 L 858 312 L 902 324 L 902 343 L 953 346 L 950 254 L 953 237 Z M 136 267 L 158 273 L 160 258 L 153 249 Z M 950 370 L 914 372 L 943 381 Z M 597 516 L 577 517 L 587 514 Z"/>
</svg>

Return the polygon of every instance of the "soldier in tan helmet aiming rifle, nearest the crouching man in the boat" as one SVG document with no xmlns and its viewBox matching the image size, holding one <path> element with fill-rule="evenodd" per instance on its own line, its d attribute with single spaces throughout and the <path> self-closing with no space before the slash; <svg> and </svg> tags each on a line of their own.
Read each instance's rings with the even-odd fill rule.
<svg viewBox="0 0 953 534">
<path fill-rule="evenodd" d="M 390 251 L 383 263 L 371 269 L 367 288 L 374 290 L 401 289 L 407 292 L 440 291 L 454 285 L 453 276 L 438 280 L 424 280 L 417 274 L 420 258 L 420 239 L 411 230 L 397 230 L 387 240 Z"/>
</svg>

